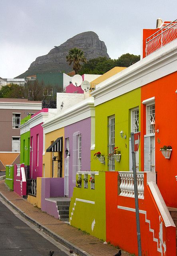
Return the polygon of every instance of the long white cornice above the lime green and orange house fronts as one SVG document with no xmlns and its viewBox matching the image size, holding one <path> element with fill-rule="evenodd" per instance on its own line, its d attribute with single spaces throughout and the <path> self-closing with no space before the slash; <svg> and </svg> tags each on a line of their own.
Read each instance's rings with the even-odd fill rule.
<svg viewBox="0 0 177 256">
<path fill-rule="evenodd" d="M 177 40 L 96 85 L 95 106 L 177 71 Z"/>
</svg>

